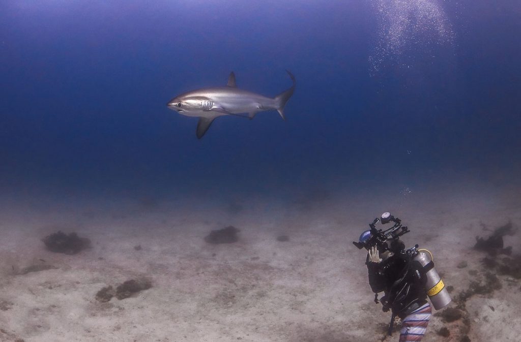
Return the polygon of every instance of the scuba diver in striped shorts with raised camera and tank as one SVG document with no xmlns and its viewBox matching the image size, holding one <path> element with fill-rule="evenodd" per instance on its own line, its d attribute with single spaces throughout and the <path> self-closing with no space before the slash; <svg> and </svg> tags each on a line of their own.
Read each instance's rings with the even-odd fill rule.
<svg viewBox="0 0 521 342">
<path fill-rule="evenodd" d="M 378 222 L 394 225 L 382 231 L 376 228 Z M 439 310 L 451 302 L 451 297 L 434 269 L 431 252 L 417 249 L 418 245 L 405 249 L 400 236 L 410 231 L 401 222 L 384 212 L 353 244 L 368 251 L 365 263 L 375 302 L 379 302 L 378 294 L 383 292 L 382 310 L 391 311 L 388 334 L 392 334 L 394 319 L 398 316 L 402 320 L 399 341 L 421 341 L 432 312 L 427 298 Z"/>
</svg>

